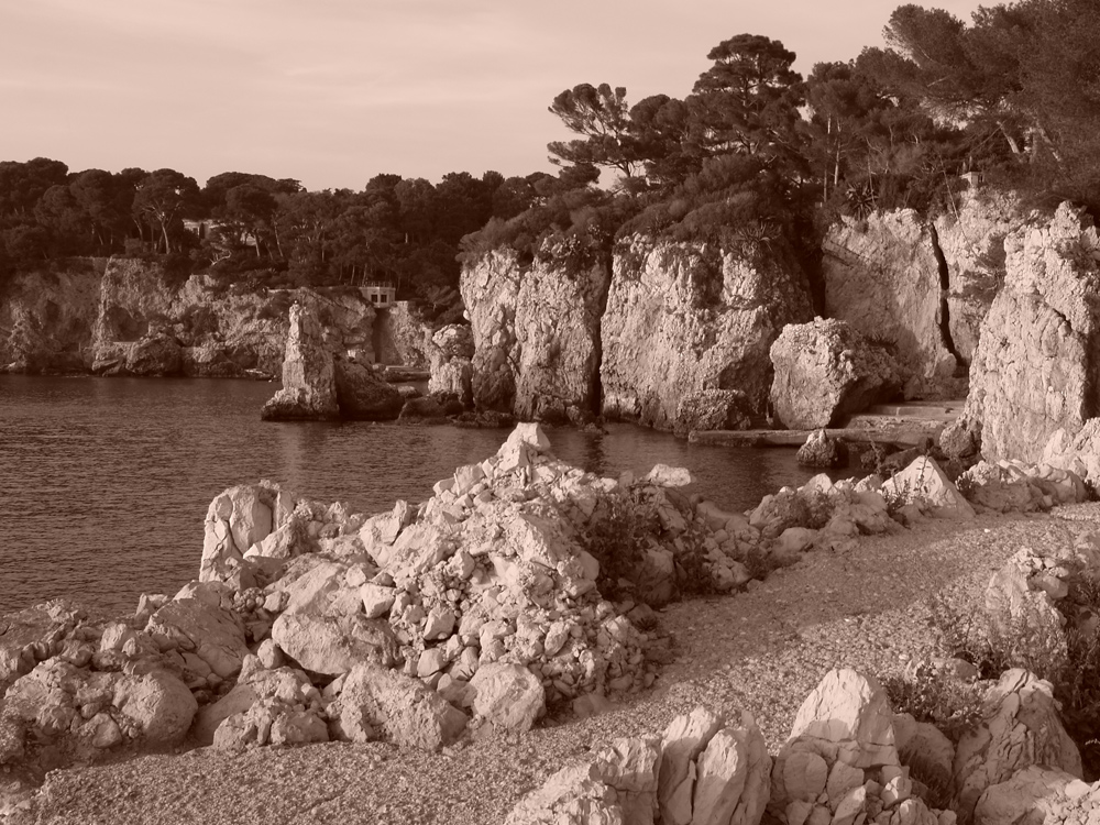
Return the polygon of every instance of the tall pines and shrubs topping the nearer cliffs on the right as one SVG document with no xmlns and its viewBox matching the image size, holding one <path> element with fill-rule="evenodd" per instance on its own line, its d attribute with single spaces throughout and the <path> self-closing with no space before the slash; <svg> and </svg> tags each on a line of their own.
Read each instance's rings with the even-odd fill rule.
<svg viewBox="0 0 1100 825">
<path fill-rule="evenodd" d="M 535 253 L 548 234 L 606 243 L 636 231 L 750 244 L 785 233 L 807 263 L 824 227 L 875 209 L 955 208 L 974 173 L 1027 206 L 1100 213 L 1100 0 L 1023 0 L 967 23 L 901 6 L 884 48 L 818 63 L 739 34 L 707 54 L 684 98 L 580 84 L 550 105 L 576 136 L 550 161 L 610 191 L 566 193 L 466 239 Z"/>
</svg>

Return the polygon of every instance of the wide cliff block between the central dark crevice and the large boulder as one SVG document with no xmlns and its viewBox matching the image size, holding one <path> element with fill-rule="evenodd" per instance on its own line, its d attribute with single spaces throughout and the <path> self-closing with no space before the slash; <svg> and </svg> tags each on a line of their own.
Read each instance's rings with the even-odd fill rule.
<svg viewBox="0 0 1100 825">
<path fill-rule="evenodd" d="M 672 429 L 682 399 L 707 388 L 739 391 L 763 413 L 769 348 L 812 315 L 791 255 L 634 238 L 614 270 L 601 328 L 605 415 Z"/>
</svg>

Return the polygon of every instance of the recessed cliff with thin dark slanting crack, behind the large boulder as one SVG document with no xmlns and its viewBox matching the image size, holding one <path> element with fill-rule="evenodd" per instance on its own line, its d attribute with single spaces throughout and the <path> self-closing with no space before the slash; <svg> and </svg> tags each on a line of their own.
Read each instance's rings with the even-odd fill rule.
<svg viewBox="0 0 1100 825">
<path fill-rule="evenodd" d="M 827 314 L 892 344 L 911 397 L 965 391 L 955 378 L 1003 280 L 1003 240 L 1023 223 L 1011 198 L 986 190 L 934 222 L 912 209 L 846 218 L 824 243 Z"/>
</svg>

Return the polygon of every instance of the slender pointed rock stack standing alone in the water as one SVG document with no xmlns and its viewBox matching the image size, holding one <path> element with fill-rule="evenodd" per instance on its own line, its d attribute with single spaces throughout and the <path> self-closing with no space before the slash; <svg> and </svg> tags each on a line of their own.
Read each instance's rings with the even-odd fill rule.
<svg viewBox="0 0 1100 825">
<path fill-rule="evenodd" d="M 340 417 L 336 369 L 316 311 L 310 304 L 290 307 L 283 387 L 264 405 L 260 417 L 265 420 Z"/>
</svg>

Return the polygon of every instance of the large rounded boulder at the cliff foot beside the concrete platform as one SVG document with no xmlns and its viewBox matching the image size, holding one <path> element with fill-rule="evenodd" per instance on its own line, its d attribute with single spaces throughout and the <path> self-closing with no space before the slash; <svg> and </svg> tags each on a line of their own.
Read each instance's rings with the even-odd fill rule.
<svg viewBox="0 0 1100 825">
<path fill-rule="evenodd" d="M 784 427 L 836 426 L 904 385 L 893 356 L 837 319 L 788 324 L 771 345 L 771 406 Z M 817 465 L 822 466 L 822 465 Z"/>
</svg>

